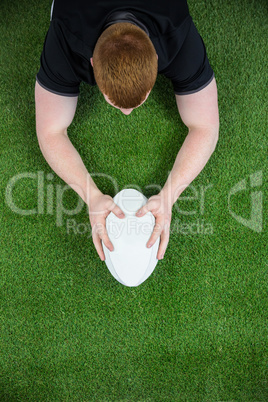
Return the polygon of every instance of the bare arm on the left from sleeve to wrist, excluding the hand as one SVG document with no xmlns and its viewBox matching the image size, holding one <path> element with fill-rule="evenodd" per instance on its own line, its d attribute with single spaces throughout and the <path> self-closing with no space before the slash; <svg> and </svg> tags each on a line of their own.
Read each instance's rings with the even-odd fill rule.
<svg viewBox="0 0 268 402">
<path fill-rule="evenodd" d="M 86 202 L 97 187 L 68 138 L 67 128 L 74 118 L 77 97 L 55 95 L 35 86 L 36 132 L 47 163 Z"/>
</svg>

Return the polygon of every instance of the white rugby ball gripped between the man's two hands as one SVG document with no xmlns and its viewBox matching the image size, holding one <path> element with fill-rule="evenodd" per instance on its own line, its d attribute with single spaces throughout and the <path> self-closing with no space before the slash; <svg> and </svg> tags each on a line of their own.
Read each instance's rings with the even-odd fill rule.
<svg viewBox="0 0 268 402">
<path fill-rule="evenodd" d="M 105 263 L 122 285 L 138 286 L 152 274 L 158 262 L 160 239 L 151 248 L 146 246 L 154 229 L 155 217 L 151 212 L 136 217 L 147 198 L 135 189 L 120 191 L 114 202 L 122 209 L 125 218 L 120 219 L 113 212 L 106 218 L 106 229 L 114 250 L 108 250 L 102 243 Z"/>
</svg>

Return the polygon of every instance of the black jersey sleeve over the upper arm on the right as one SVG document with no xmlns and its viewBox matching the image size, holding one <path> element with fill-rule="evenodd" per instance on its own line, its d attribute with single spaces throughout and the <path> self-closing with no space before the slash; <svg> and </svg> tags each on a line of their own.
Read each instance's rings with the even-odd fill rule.
<svg viewBox="0 0 268 402">
<path fill-rule="evenodd" d="M 161 73 L 171 79 L 176 95 L 198 92 L 212 81 L 206 48 L 193 22 L 180 51 Z"/>
</svg>

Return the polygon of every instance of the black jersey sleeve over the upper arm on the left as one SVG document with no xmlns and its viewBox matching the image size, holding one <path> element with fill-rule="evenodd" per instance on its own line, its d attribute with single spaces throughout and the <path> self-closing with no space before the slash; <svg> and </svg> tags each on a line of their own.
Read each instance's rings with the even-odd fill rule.
<svg viewBox="0 0 268 402">
<path fill-rule="evenodd" d="M 62 28 L 51 21 L 40 58 L 37 82 L 50 92 L 78 96 L 81 80 L 75 73 L 75 58 Z"/>
</svg>

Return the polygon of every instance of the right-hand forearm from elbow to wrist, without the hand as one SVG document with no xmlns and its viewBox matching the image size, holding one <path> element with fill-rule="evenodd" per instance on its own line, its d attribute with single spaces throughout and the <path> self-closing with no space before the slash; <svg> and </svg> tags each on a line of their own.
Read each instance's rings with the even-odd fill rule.
<svg viewBox="0 0 268 402">
<path fill-rule="evenodd" d="M 162 193 L 173 205 L 180 194 L 198 176 L 215 150 L 218 128 L 195 128 L 189 133 L 177 155 Z"/>
</svg>

